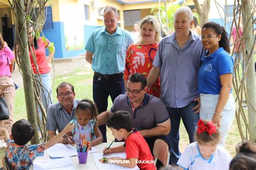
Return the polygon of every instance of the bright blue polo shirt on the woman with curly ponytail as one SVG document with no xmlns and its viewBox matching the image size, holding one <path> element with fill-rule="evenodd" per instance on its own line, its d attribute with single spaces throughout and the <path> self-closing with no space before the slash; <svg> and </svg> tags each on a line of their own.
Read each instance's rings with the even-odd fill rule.
<svg viewBox="0 0 256 170">
<path fill-rule="evenodd" d="M 220 76 L 233 74 L 232 57 L 220 47 L 209 56 L 201 59 L 203 64 L 198 71 L 198 91 L 203 94 L 220 94 Z M 232 92 L 232 90 L 231 90 Z"/>
</svg>

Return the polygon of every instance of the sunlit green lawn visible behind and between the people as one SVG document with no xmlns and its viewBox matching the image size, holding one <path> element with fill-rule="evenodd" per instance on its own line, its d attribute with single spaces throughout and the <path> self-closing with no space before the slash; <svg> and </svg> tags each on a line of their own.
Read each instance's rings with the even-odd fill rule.
<svg viewBox="0 0 256 170">
<path fill-rule="evenodd" d="M 56 87 L 62 81 L 69 82 L 75 86 L 76 98 L 84 99 L 89 98 L 92 99 L 92 77 L 93 72 L 91 69 L 86 67 L 80 67 L 78 70 L 72 73 L 64 74 L 63 76 L 57 76 L 53 78 L 53 102 L 57 102 L 56 98 Z M 24 91 L 23 88 L 20 88 L 16 91 L 15 97 L 15 121 L 25 118 L 26 119 L 26 109 L 24 102 Z M 112 106 L 112 101 L 109 98 L 109 108 Z M 111 132 L 107 131 L 107 139 L 108 141 L 113 140 L 113 136 Z M 234 119 L 231 129 L 228 133 L 225 147 L 227 151 L 234 156 L 235 155 L 235 145 L 241 141 L 240 134 L 237 127 L 237 121 Z M 189 144 L 188 135 L 184 128 L 183 123 L 180 124 L 180 151 L 183 152 L 185 147 Z"/>
</svg>

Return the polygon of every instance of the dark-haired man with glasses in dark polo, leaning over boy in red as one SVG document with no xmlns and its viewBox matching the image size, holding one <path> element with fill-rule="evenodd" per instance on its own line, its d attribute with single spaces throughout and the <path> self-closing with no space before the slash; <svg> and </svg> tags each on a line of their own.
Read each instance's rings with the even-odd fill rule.
<svg viewBox="0 0 256 170">
<path fill-rule="evenodd" d="M 147 80 L 143 74 L 131 74 L 125 87 L 126 94 L 120 94 L 114 99 L 111 110 L 98 115 L 98 124 L 105 124 L 113 112 L 129 112 L 133 128 L 137 128 L 143 135 L 152 152 L 156 139 L 163 139 L 169 145 L 165 135 L 170 132 L 171 121 L 163 101 L 147 94 L 146 84 Z"/>
</svg>

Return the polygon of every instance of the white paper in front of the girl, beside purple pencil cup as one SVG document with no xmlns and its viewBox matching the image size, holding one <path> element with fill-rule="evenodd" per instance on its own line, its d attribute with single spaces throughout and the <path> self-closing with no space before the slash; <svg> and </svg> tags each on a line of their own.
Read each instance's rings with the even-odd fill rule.
<svg viewBox="0 0 256 170">
<path fill-rule="evenodd" d="M 75 146 L 56 144 L 49 149 L 46 149 L 46 152 L 51 158 L 63 158 L 63 157 L 72 157 L 77 155 L 77 150 Z M 98 152 L 98 149 L 92 147 L 92 150 L 88 153 Z"/>
</svg>

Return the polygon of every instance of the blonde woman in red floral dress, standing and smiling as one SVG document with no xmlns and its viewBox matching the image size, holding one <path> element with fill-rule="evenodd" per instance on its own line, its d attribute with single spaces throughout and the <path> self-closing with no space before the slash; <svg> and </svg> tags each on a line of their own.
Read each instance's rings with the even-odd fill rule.
<svg viewBox="0 0 256 170">
<path fill-rule="evenodd" d="M 130 74 L 142 73 L 145 77 L 149 74 L 154 56 L 156 55 L 159 42 L 161 40 L 160 24 L 156 17 L 146 16 L 139 23 L 140 39 L 138 42 L 131 44 L 126 52 L 124 83 Z M 149 88 L 149 94 L 160 97 L 160 80 Z"/>
</svg>

